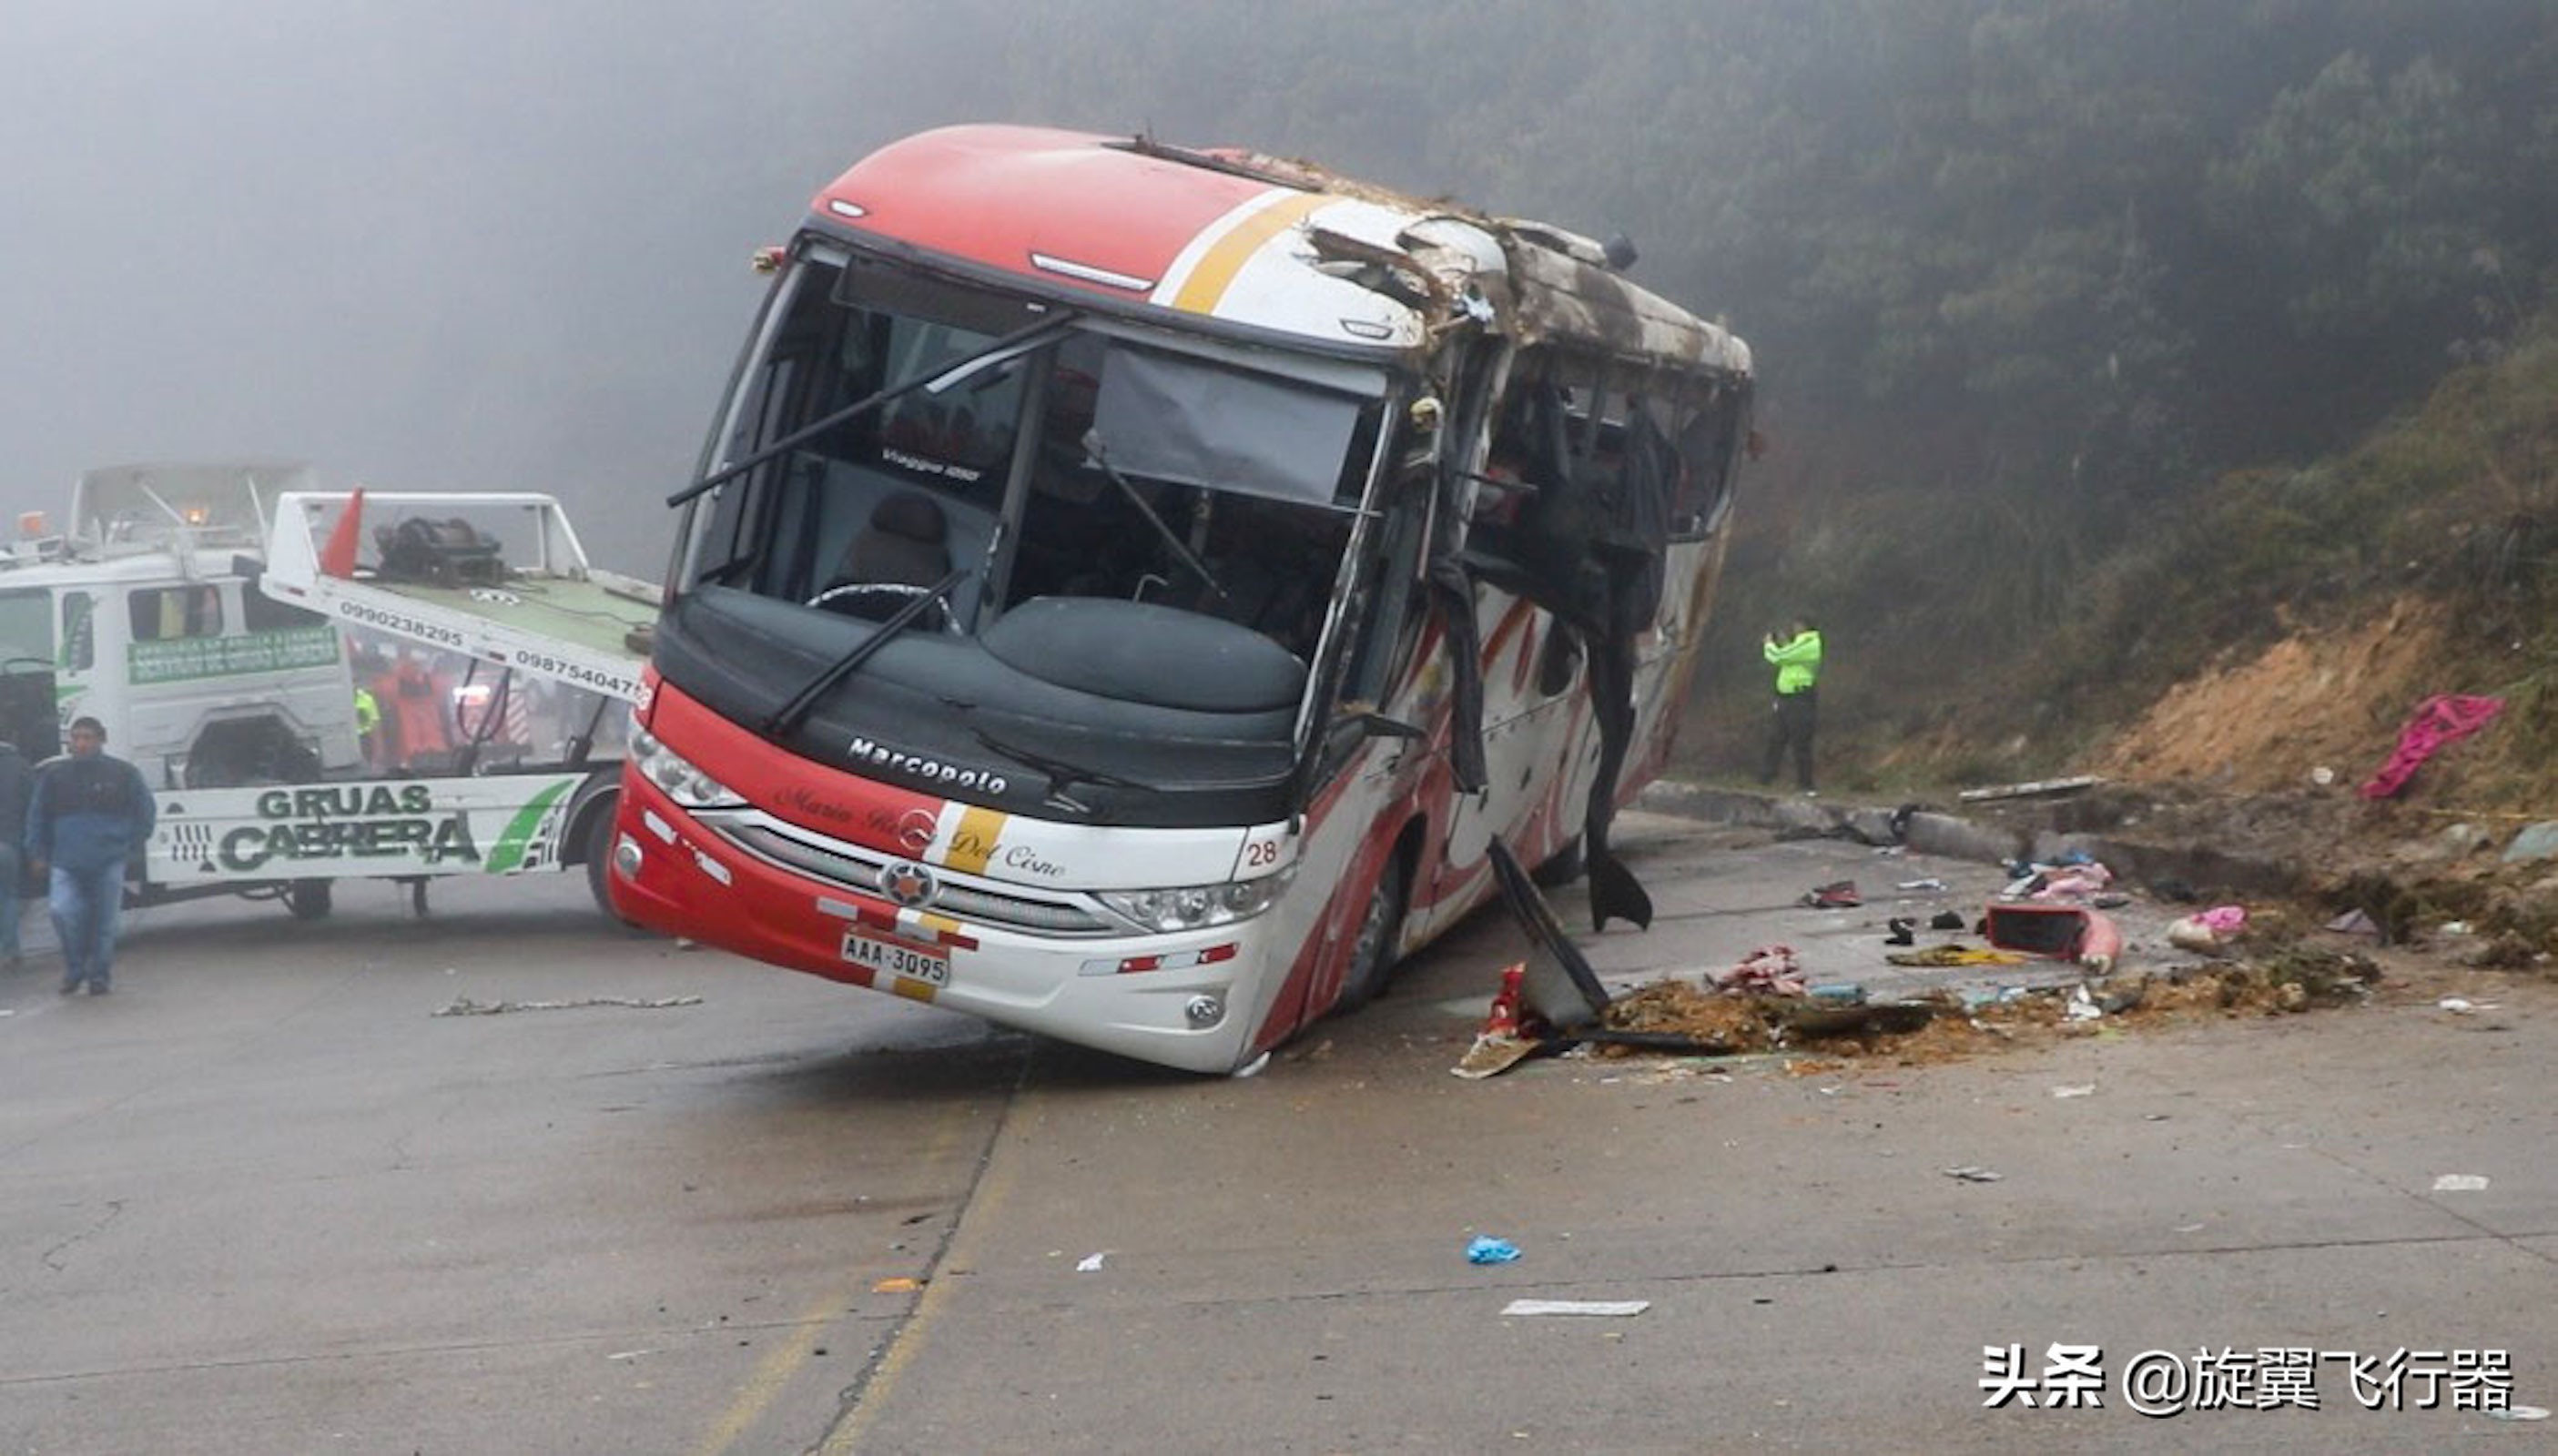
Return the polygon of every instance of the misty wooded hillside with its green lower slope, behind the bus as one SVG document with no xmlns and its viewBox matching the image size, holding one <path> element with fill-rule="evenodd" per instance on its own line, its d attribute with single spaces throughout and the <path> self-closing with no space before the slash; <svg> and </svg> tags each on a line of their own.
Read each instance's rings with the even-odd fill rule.
<svg viewBox="0 0 2558 1456">
<path fill-rule="evenodd" d="M 1691 770 L 1752 763 L 1755 642 L 1793 612 L 1832 642 L 1824 757 L 1872 786 L 2069 768 L 2215 653 L 2405 594 L 2476 650 L 2445 688 L 2512 696 L 2499 742 L 2558 745 L 2548 0 L 934 23 L 987 36 L 1021 120 L 1627 230 L 1640 281 L 1729 315 L 1773 453 Z"/>
</svg>

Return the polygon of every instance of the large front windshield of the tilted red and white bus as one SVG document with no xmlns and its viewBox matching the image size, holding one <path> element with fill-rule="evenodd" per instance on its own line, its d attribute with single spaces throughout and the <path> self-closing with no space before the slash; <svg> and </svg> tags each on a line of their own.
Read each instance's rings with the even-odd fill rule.
<svg viewBox="0 0 2558 1456">
<path fill-rule="evenodd" d="M 793 261 L 703 473 L 770 458 L 691 502 L 660 670 L 803 752 L 946 732 L 1051 811 L 1092 798 L 1056 765 L 1118 786 L 1120 819 L 1243 811 L 1136 801 L 1287 778 L 1310 683 L 1353 650 L 1328 627 L 1363 576 L 1392 379 L 1113 320 L 1039 330 L 1044 312 L 857 256 Z M 898 640 L 862 653 L 890 617 Z M 749 637 L 762 650 L 732 650 Z M 857 683 L 806 724 L 773 706 L 847 653 Z M 969 711 L 867 724 L 900 688 Z"/>
</svg>

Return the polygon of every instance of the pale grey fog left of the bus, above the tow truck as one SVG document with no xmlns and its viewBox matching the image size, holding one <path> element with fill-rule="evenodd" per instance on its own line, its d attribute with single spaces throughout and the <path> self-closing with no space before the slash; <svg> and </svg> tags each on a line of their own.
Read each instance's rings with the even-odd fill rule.
<svg viewBox="0 0 2558 1456">
<path fill-rule="evenodd" d="M 18 0 L 0 504 L 302 458 L 545 489 L 655 576 L 760 279 L 859 154 L 1000 113 L 913 8 Z"/>
</svg>

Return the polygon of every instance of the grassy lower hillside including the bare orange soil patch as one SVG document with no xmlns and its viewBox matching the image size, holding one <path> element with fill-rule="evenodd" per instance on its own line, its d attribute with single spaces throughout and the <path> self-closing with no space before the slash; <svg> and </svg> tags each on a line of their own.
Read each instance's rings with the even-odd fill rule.
<svg viewBox="0 0 2558 1456">
<path fill-rule="evenodd" d="M 2361 778 L 2428 693 L 2504 719 L 2430 783 L 2558 811 L 2558 325 L 2358 448 L 2138 504 L 1847 481 L 1785 440 L 1742 512 L 1688 773 L 1755 770 L 1757 635 L 1824 627 L 1837 788 L 2103 770 Z M 1857 450 L 1847 450 L 1855 455 Z"/>
</svg>

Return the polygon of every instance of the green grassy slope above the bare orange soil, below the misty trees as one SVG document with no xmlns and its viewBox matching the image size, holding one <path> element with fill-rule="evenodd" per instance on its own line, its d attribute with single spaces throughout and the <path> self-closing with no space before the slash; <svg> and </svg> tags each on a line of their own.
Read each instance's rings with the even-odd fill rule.
<svg viewBox="0 0 2558 1456">
<path fill-rule="evenodd" d="M 2558 320 L 2346 453 L 2136 514 L 1865 494 L 1791 530 L 1752 522 L 1745 545 L 1709 653 L 1747 660 L 1747 601 L 1809 601 L 1855 663 L 1824 704 L 1832 757 L 1875 786 L 2067 770 L 2215 660 L 2417 599 L 2453 632 L 2412 691 L 2507 699 L 2494 747 L 2468 755 L 2474 796 L 2558 803 Z M 1709 704 L 1742 740 L 1757 676 Z M 1747 747 L 1709 732 L 1691 768 L 1734 773 Z"/>
</svg>

